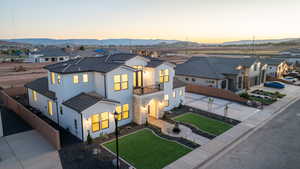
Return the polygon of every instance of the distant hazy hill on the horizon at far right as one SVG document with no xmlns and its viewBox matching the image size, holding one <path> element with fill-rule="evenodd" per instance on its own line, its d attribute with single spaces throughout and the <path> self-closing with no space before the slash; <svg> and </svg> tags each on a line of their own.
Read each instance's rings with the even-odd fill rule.
<svg viewBox="0 0 300 169">
<path fill-rule="evenodd" d="M 255 44 L 278 44 L 278 43 L 286 43 L 292 41 L 300 41 L 300 38 L 286 38 L 286 39 L 264 39 L 264 40 L 255 40 Z M 240 41 L 230 41 L 224 42 L 222 45 L 249 45 L 252 44 L 252 40 L 240 40 Z"/>
</svg>

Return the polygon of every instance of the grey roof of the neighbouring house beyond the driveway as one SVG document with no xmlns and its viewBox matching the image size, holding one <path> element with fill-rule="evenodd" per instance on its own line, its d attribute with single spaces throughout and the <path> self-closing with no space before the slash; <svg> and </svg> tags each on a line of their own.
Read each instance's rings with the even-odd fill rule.
<svg viewBox="0 0 300 169">
<path fill-rule="evenodd" d="M 238 74 L 238 66 L 250 67 L 256 61 L 256 58 L 191 57 L 176 66 L 176 75 L 224 79 L 225 74 Z"/>
</svg>

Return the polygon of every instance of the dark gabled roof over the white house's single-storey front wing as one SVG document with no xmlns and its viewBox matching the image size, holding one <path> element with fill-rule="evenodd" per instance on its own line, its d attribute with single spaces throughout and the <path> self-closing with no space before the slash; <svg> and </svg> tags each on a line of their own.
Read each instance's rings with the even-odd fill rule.
<svg viewBox="0 0 300 169">
<path fill-rule="evenodd" d="M 91 107 L 99 101 L 108 101 L 112 103 L 119 103 L 114 100 L 106 99 L 96 93 L 80 93 L 77 96 L 70 98 L 69 100 L 63 102 L 62 104 L 77 111 L 82 112 L 83 110 Z"/>
</svg>

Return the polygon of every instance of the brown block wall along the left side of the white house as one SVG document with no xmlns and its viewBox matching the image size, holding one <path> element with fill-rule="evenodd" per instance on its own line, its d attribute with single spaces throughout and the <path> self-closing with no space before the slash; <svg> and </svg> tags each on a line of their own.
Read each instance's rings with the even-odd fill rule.
<svg viewBox="0 0 300 169">
<path fill-rule="evenodd" d="M 11 94 L 19 94 L 23 90 L 16 89 L 16 91 L 13 91 L 11 89 Z M 24 93 L 23 93 L 24 94 Z M 59 131 L 54 129 L 52 126 L 50 126 L 47 122 L 40 119 L 37 115 L 32 113 L 30 110 L 28 110 L 26 107 L 24 107 L 22 104 L 17 102 L 15 99 L 13 99 L 11 96 L 9 96 L 5 91 L 0 90 L 0 98 L 3 101 L 3 104 L 16 112 L 17 115 L 19 115 L 24 121 L 26 121 L 32 128 L 37 130 L 46 140 L 48 140 L 55 149 L 60 149 L 60 137 L 59 137 Z"/>
</svg>

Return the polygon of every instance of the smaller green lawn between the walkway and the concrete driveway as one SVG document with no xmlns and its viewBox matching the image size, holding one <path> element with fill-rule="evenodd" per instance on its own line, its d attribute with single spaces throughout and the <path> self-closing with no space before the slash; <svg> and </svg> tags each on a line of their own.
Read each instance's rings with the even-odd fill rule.
<svg viewBox="0 0 300 169">
<path fill-rule="evenodd" d="M 198 129 L 213 135 L 220 135 L 233 126 L 222 121 L 211 119 L 195 113 L 186 113 L 174 118 L 176 121 L 191 124 Z"/>
</svg>

